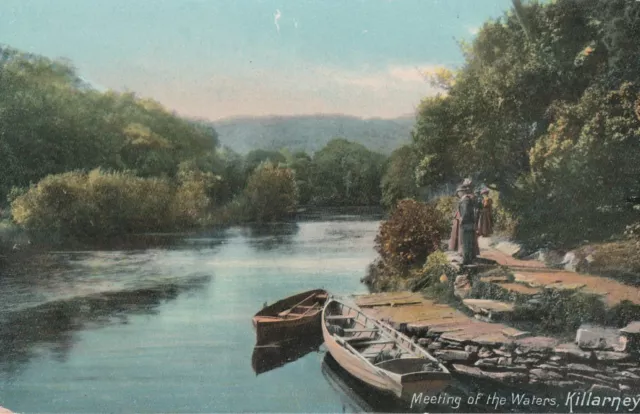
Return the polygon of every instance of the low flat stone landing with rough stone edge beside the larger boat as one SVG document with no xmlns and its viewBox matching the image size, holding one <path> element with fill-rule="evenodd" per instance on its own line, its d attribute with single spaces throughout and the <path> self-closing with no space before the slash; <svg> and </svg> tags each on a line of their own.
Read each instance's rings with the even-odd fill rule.
<svg viewBox="0 0 640 414">
<path fill-rule="evenodd" d="M 356 303 L 366 314 L 410 336 L 461 375 L 547 393 L 640 392 L 640 357 L 624 341 L 586 343 L 588 333 L 584 330 L 579 333 L 579 344 L 531 336 L 506 324 L 478 320 L 409 291 L 359 295 Z M 620 336 L 631 337 L 630 332 L 637 329 L 630 326 Z"/>
</svg>

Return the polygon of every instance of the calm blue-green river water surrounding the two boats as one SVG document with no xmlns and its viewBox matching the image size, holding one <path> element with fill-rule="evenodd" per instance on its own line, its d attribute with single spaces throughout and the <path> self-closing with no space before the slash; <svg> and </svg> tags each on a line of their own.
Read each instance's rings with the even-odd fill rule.
<svg viewBox="0 0 640 414">
<path fill-rule="evenodd" d="M 2 269 L 0 405 L 47 413 L 406 411 L 349 378 L 318 344 L 265 372 L 263 359 L 259 375 L 252 366 L 251 317 L 264 302 L 313 288 L 366 293 L 360 278 L 375 257 L 378 225 L 342 216 L 235 228 L 164 248 L 57 252 Z M 456 382 L 448 392 L 482 386 Z"/>
</svg>

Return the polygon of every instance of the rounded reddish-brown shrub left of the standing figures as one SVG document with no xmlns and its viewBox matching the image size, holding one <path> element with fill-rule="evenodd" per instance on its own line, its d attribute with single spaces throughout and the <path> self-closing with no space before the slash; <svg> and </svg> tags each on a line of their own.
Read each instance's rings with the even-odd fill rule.
<svg viewBox="0 0 640 414">
<path fill-rule="evenodd" d="M 380 225 L 376 251 L 386 262 L 409 268 L 425 261 L 442 240 L 443 218 L 431 204 L 402 200 Z"/>
</svg>

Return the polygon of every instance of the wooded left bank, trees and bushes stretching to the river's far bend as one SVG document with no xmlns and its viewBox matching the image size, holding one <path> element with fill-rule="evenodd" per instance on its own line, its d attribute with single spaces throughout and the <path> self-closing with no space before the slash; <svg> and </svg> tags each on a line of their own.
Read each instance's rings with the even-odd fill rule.
<svg viewBox="0 0 640 414">
<path fill-rule="evenodd" d="M 386 157 L 343 138 L 240 155 L 207 123 L 99 92 L 70 62 L 0 47 L 2 250 L 378 205 Z"/>
</svg>

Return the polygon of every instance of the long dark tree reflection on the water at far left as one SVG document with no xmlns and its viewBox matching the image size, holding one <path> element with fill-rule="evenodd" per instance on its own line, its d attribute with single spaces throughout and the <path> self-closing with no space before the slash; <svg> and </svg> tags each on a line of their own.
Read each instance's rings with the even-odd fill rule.
<svg viewBox="0 0 640 414">
<path fill-rule="evenodd" d="M 201 289 L 209 281 L 209 275 L 194 275 L 156 286 L 96 293 L 5 312 L 0 319 L 0 372 L 13 376 L 43 350 L 65 361 L 78 331 L 126 324 L 130 315 L 153 315 L 161 304 Z"/>
</svg>

